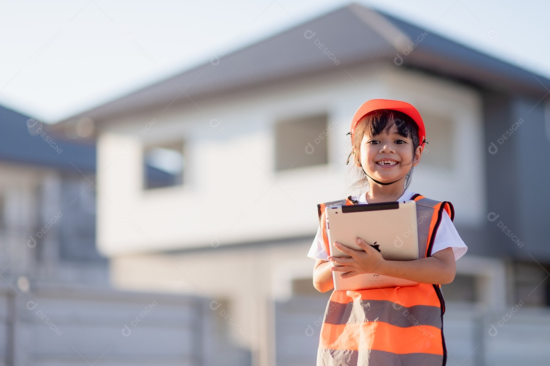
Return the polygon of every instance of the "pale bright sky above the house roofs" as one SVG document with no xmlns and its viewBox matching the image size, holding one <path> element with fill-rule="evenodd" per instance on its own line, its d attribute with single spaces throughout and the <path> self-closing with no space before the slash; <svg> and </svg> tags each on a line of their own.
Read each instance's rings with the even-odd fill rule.
<svg viewBox="0 0 550 366">
<path fill-rule="evenodd" d="M 343 0 L 0 0 L 0 105 L 55 123 Z M 550 2 L 356 0 L 550 78 Z"/>
</svg>

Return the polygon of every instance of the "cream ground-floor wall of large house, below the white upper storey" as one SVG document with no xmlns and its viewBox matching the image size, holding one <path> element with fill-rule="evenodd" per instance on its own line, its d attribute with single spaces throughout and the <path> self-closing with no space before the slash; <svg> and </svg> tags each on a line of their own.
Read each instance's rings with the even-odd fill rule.
<svg viewBox="0 0 550 366">
<path fill-rule="evenodd" d="M 111 278 L 120 289 L 195 294 L 216 300 L 232 319 L 222 322 L 235 344 L 269 353 L 262 339 L 272 331 L 271 301 L 292 295 L 292 280 L 310 278 L 313 263 L 306 257 L 311 240 L 237 249 L 113 257 Z M 312 285 L 311 285 L 312 286 Z M 268 336 L 267 336 L 268 338 Z M 258 356 L 261 356 L 258 355 Z"/>
</svg>

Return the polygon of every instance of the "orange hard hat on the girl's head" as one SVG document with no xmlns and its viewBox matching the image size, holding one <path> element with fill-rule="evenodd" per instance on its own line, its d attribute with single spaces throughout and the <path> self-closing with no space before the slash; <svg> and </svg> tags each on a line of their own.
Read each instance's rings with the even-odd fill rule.
<svg viewBox="0 0 550 366">
<path fill-rule="evenodd" d="M 353 143 L 353 132 L 359 120 L 362 119 L 365 115 L 376 110 L 395 110 L 398 112 L 403 112 L 404 114 L 411 117 L 413 121 L 416 122 L 418 126 L 418 139 L 419 145 L 422 146 L 426 142 L 426 127 L 424 127 L 424 121 L 420 116 L 419 111 L 412 106 L 412 104 L 401 102 L 401 100 L 391 100 L 391 99 L 371 99 L 363 103 L 359 109 L 355 112 L 353 120 L 351 120 L 351 142 Z"/>
</svg>

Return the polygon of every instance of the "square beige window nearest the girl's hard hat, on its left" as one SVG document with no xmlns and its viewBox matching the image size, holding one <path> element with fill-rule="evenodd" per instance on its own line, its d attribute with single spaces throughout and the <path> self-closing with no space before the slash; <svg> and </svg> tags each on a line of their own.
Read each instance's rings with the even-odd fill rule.
<svg viewBox="0 0 550 366">
<path fill-rule="evenodd" d="M 275 125 L 275 168 L 327 164 L 327 116 L 284 120 Z"/>
</svg>

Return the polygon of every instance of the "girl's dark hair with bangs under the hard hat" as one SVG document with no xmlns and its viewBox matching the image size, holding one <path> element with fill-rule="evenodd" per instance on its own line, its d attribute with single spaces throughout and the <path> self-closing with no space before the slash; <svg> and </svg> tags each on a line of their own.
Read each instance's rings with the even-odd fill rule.
<svg viewBox="0 0 550 366">
<path fill-rule="evenodd" d="M 397 127 L 397 133 L 403 137 L 410 137 L 412 140 L 412 152 L 416 151 L 419 147 L 420 141 L 418 137 L 418 126 L 416 122 L 404 114 L 394 110 L 376 110 L 363 116 L 353 133 L 353 140 L 351 141 L 351 155 L 353 156 L 354 166 L 361 166 L 361 142 L 363 136 L 376 136 L 379 133 L 389 133 L 390 129 L 395 125 Z M 359 169 L 360 179 L 355 182 L 354 186 L 364 186 L 368 184 L 368 179 L 362 168 Z M 412 168 L 405 178 L 405 189 L 409 187 L 410 177 L 412 175 Z"/>
</svg>

